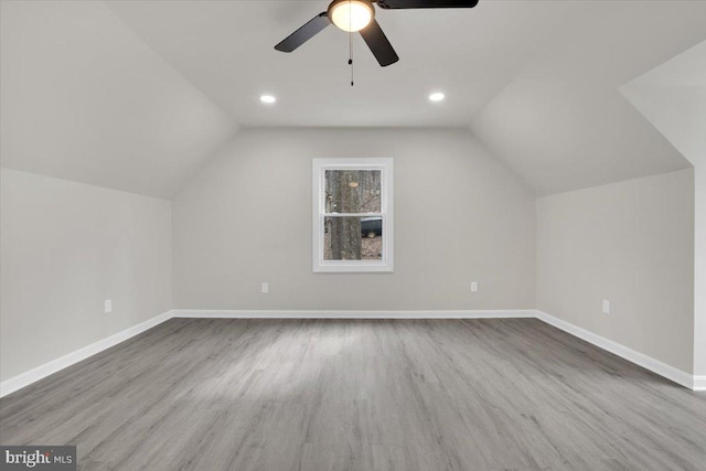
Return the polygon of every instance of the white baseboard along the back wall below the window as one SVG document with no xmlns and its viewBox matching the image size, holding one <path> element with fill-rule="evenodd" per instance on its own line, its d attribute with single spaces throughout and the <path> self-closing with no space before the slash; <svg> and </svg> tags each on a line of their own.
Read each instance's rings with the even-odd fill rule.
<svg viewBox="0 0 706 471">
<path fill-rule="evenodd" d="M 488 311 L 248 311 L 175 309 L 174 318 L 222 319 L 507 319 L 534 318 L 533 309 Z"/>
</svg>

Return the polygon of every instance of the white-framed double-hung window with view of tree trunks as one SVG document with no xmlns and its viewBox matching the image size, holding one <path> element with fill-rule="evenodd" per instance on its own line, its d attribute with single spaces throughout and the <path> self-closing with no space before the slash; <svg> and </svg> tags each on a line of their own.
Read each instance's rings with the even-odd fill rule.
<svg viewBox="0 0 706 471">
<path fill-rule="evenodd" d="M 314 271 L 393 271 L 393 159 L 314 159 L 312 193 Z"/>
</svg>

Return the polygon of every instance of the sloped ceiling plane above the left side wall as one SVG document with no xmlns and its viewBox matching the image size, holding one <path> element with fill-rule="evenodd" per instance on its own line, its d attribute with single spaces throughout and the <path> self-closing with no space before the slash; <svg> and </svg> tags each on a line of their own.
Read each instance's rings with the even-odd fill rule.
<svg viewBox="0 0 706 471">
<path fill-rule="evenodd" d="M 171 199 L 236 124 L 103 3 L 1 3 L 2 167 Z"/>
</svg>

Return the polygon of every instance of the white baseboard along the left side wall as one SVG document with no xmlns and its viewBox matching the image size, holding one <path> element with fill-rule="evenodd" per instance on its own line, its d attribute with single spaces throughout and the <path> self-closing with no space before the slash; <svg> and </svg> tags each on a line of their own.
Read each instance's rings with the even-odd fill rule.
<svg viewBox="0 0 706 471">
<path fill-rule="evenodd" d="M 35 383 L 49 375 L 52 375 L 61 370 L 64 370 L 65 367 L 68 367 L 75 363 L 78 363 L 82 360 L 86 360 L 87 357 L 93 356 L 96 353 L 100 353 L 104 350 L 107 350 L 114 345 L 117 345 L 120 342 L 125 342 L 126 340 L 137 334 L 140 334 L 146 330 L 152 329 L 154 325 L 161 324 L 162 322 L 171 318 L 172 318 L 172 312 L 167 311 L 160 315 L 157 315 L 156 318 L 149 319 L 145 322 L 141 322 L 124 331 L 120 331 L 106 339 L 99 340 L 98 342 L 92 343 L 90 345 L 86 345 L 83 349 L 78 349 L 75 352 L 68 353 L 64 356 L 61 356 L 56 360 L 52 360 L 51 362 L 44 363 L 43 365 L 40 365 L 28 372 L 24 372 L 17 376 L 8 378 L 2 383 L 0 383 L 0 397 L 4 397 L 8 394 L 12 394 L 18 389 L 29 386 L 32 383 Z"/>
</svg>

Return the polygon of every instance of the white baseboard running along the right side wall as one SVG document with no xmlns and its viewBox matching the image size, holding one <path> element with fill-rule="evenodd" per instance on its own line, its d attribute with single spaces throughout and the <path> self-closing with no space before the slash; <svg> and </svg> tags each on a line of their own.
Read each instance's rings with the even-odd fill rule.
<svg viewBox="0 0 706 471">
<path fill-rule="evenodd" d="M 650 370 L 651 372 L 656 373 L 660 376 L 664 376 L 665 378 L 671 379 L 676 384 L 681 384 L 682 386 L 685 386 L 689 389 L 695 388 L 695 376 L 686 372 L 683 372 L 678 368 L 675 368 L 674 366 L 670 366 L 666 363 L 662 363 L 659 360 L 654 360 L 651 356 L 621 345 L 618 342 L 608 340 L 605 336 L 595 334 L 593 332 L 587 331 L 586 329 L 581 329 L 571 323 L 563 321 L 561 319 L 555 318 L 554 315 L 549 315 L 546 312 L 536 311 L 536 313 L 537 319 L 550 325 L 554 325 L 557 329 L 561 329 L 563 331 L 568 332 L 574 336 L 578 336 L 579 339 L 585 340 L 588 343 L 592 343 L 593 345 L 599 346 L 618 356 L 621 356 L 629 362 L 640 365 L 643 368 Z"/>
</svg>

